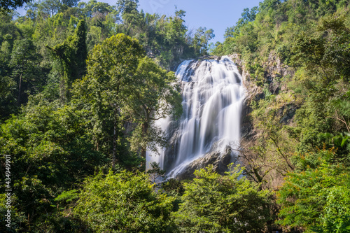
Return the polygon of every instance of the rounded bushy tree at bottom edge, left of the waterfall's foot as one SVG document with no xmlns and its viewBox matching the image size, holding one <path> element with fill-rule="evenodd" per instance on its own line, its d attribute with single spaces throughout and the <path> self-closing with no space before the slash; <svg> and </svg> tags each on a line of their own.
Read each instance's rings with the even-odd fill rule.
<svg viewBox="0 0 350 233">
<path fill-rule="evenodd" d="M 96 232 L 174 232 L 174 199 L 153 186 L 139 172 L 98 174 L 85 181 L 74 213 Z"/>
</svg>

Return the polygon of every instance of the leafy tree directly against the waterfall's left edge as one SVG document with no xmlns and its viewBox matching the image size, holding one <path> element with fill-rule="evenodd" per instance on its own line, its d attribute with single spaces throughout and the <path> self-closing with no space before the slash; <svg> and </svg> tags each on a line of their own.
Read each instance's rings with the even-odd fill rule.
<svg viewBox="0 0 350 233">
<path fill-rule="evenodd" d="M 155 127 L 153 121 L 181 115 L 181 95 L 172 85 L 176 81 L 173 72 L 167 72 L 155 64 L 151 58 L 144 57 L 137 71 L 123 90 L 123 108 L 133 122 L 139 123 L 132 136 L 132 148 L 141 148 L 141 157 L 146 159 L 146 149 L 157 150 L 157 145 L 165 146 L 162 129 Z"/>
</svg>

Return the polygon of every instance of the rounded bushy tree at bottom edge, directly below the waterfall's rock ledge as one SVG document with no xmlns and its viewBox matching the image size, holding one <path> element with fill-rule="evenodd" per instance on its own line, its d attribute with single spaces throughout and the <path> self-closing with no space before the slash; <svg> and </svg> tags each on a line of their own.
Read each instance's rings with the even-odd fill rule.
<svg viewBox="0 0 350 233">
<path fill-rule="evenodd" d="M 195 171 L 196 178 L 185 183 L 179 211 L 174 214 L 181 232 L 260 232 L 268 220 L 263 206 L 268 191 L 258 191 L 242 169 L 221 176 L 213 166 Z"/>
</svg>

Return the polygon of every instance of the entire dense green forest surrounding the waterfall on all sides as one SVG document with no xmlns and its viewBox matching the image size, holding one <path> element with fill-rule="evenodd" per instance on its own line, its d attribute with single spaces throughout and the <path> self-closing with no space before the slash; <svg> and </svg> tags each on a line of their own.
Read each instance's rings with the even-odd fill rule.
<svg viewBox="0 0 350 233">
<path fill-rule="evenodd" d="M 214 47 L 185 11 L 137 6 L 45 0 L 0 13 L 10 232 L 350 232 L 349 0 L 262 1 Z M 154 120 L 181 114 L 169 67 L 209 50 L 237 53 L 246 71 L 244 168 L 145 174 L 146 148 L 167 145 Z"/>
</svg>

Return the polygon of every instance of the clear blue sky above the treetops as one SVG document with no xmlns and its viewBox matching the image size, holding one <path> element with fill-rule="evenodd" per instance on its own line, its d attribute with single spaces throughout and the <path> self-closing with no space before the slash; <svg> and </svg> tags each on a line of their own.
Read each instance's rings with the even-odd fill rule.
<svg viewBox="0 0 350 233">
<path fill-rule="evenodd" d="M 82 0 L 88 1 L 88 0 Z M 117 0 L 97 0 L 115 5 Z M 174 15 L 175 6 L 186 11 L 186 26 L 188 29 L 207 27 L 214 29 L 215 38 L 211 42 L 224 41 L 225 29 L 233 26 L 244 8 L 259 6 L 262 0 L 139 0 L 139 10 L 160 15 Z M 21 14 L 25 10 L 18 10 Z"/>
</svg>

